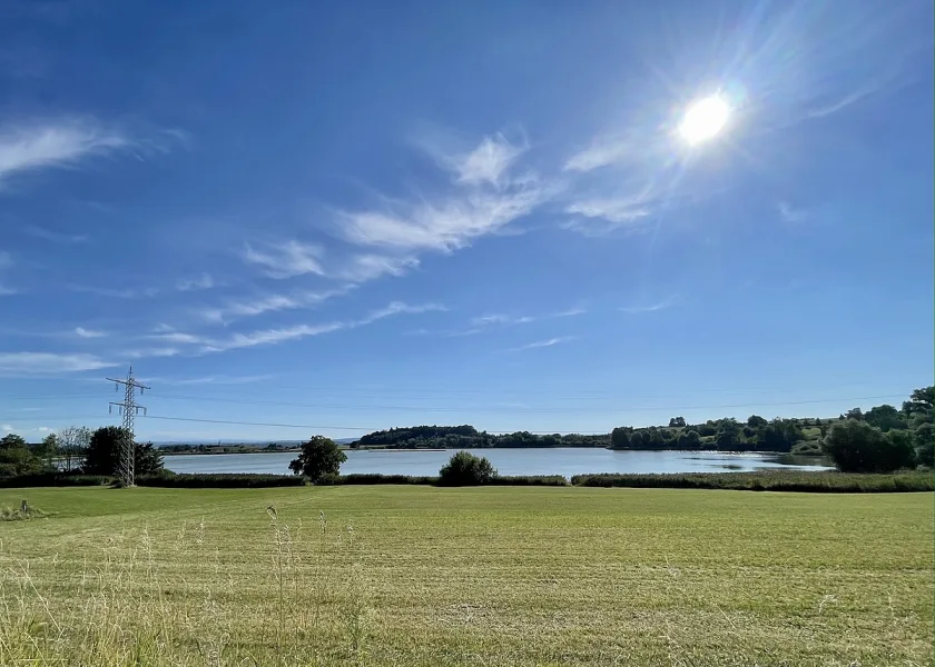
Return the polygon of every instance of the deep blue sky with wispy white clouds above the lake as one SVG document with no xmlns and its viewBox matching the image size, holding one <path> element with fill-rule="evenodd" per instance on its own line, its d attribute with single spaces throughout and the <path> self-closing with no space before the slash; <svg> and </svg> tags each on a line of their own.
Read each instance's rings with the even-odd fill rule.
<svg viewBox="0 0 935 667">
<path fill-rule="evenodd" d="M 4 2 L 0 424 L 114 422 L 130 364 L 156 440 L 898 405 L 935 362 L 932 24 Z"/>
</svg>

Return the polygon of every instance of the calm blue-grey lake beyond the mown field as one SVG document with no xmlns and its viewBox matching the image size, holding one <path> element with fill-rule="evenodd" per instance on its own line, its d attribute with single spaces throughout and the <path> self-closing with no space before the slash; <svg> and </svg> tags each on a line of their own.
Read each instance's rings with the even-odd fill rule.
<svg viewBox="0 0 935 667">
<path fill-rule="evenodd" d="M 474 449 L 485 456 L 501 475 L 583 475 L 588 472 L 724 472 L 787 468 L 827 470 L 820 459 L 770 454 L 722 454 L 718 451 L 613 451 L 601 448 L 554 447 L 530 449 Z M 383 475 L 437 475 L 454 450 L 424 451 L 346 450 L 341 472 Z M 288 475 L 295 452 L 166 455 L 174 472 L 269 472 Z"/>
</svg>

